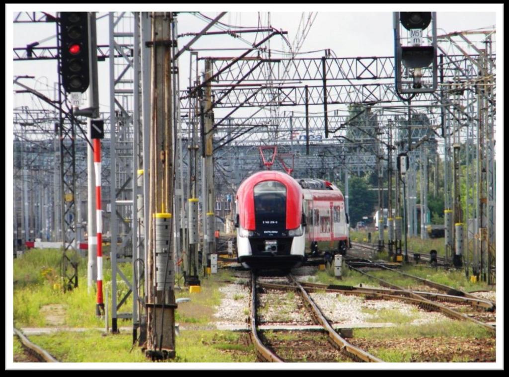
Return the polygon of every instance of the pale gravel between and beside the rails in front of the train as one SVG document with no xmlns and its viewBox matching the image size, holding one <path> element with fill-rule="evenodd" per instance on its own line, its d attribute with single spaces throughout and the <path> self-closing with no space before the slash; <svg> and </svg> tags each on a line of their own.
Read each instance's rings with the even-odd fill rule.
<svg viewBox="0 0 509 377">
<path fill-rule="evenodd" d="M 308 281 L 315 267 L 302 267 L 293 271 L 299 281 Z M 221 304 L 215 307 L 214 317 L 218 326 L 242 326 L 249 316 L 250 289 L 244 284 L 249 279 L 249 271 L 236 271 L 236 283 L 219 288 L 223 294 Z M 261 276 L 260 282 L 288 283 L 285 276 Z M 240 284 L 239 284 L 240 283 Z M 491 292 L 478 293 L 487 296 Z M 315 303 L 329 321 L 336 325 L 359 324 L 369 326 L 381 323 L 399 323 L 422 325 L 442 320 L 447 317 L 438 312 L 428 312 L 400 301 L 365 300 L 358 296 L 337 293 L 311 293 Z M 264 289 L 259 294 L 260 323 L 286 323 L 295 325 L 312 324 L 302 299 L 294 292 L 281 292 Z"/>
</svg>

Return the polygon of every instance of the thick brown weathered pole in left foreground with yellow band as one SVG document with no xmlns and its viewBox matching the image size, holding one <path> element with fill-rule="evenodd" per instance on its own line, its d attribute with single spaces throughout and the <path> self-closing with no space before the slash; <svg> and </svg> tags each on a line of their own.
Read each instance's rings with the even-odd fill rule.
<svg viewBox="0 0 509 377">
<path fill-rule="evenodd" d="M 160 243 L 166 236 L 171 239 L 171 216 L 174 200 L 173 187 L 173 91 L 171 73 L 172 14 L 152 13 L 152 120 L 150 127 L 150 210 L 148 336 L 146 356 L 155 358 L 175 357 L 175 291 L 174 259 L 171 242 Z M 154 217 L 152 216 L 154 214 Z M 156 217 L 157 216 L 157 217 Z M 152 219 L 154 218 L 154 222 Z M 156 242 L 157 241 L 157 242 Z M 167 247 L 161 247 L 167 245 Z M 161 255 L 166 260 L 161 263 Z M 165 265 L 165 269 L 163 269 Z M 167 272 L 171 270 L 171 276 Z M 162 280 L 160 280 L 162 278 Z"/>
</svg>

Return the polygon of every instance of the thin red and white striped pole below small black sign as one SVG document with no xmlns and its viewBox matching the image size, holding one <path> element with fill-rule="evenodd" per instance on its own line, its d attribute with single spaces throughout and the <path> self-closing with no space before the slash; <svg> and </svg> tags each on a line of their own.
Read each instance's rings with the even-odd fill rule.
<svg viewBox="0 0 509 377">
<path fill-rule="evenodd" d="M 101 210 L 101 139 L 94 140 L 94 168 L 96 176 L 96 217 L 97 217 L 97 305 L 96 315 L 104 314 L 102 298 L 102 210 Z"/>
</svg>

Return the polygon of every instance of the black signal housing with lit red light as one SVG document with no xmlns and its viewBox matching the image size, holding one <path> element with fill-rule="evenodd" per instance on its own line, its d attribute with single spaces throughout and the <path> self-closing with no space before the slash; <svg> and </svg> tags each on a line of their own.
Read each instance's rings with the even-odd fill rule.
<svg viewBox="0 0 509 377">
<path fill-rule="evenodd" d="M 64 90 L 83 93 L 90 84 L 88 12 L 61 12 L 60 37 Z"/>
</svg>

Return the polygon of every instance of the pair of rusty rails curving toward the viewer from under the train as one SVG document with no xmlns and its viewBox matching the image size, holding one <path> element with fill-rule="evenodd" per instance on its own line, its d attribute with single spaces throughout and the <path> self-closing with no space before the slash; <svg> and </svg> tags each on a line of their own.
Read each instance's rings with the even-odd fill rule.
<svg viewBox="0 0 509 377">
<path fill-rule="evenodd" d="M 320 324 L 324 330 L 324 332 L 327 334 L 327 342 L 324 342 L 323 335 L 320 335 L 318 337 L 322 337 L 322 339 L 317 339 L 317 335 L 314 335 L 313 340 L 310 340 L 311 343 L 314 343 L 314 345 L 307 344 L 307 347 L 309 347 L 309 350 L 315 354 L 317 350 L 321 347 L 330 347 L 330 344 L 332 344 L 335 348 L 335 350 L 339 350 L 341 352 L 341 360 L 340 361 L 348 361 L 344 357 L 353 360 L 353 361 L 365 361 L 365 362 L 382 362 L 381 359 L 378 359 L 377 357 L 359 349 L 358 347 L 350 344 L 347 340 L 345 340 L 343 337 L 341 337 L 328 323 L 325 316 L 322 314 L 320 309 L 317 307 L 317 305 L 313 302 L 313 300 L 309 297 L 308 293 L 306 292 L 306 289 L 299 283 L 293 276 L 288 277 L 290 279 L 290 284 L 286 284 L 289 287 L 291 287 L 294 291 L 298 292 L 300 294 L 300 297 L 302 298 L 304 302 L 304 306 L 306 306 L 309 309 L 309 312 L 311 313 L 312 317 L 314 318 L 314 322 L 317 324 Z M 297 344 L 293 343 L 292 345 L 288 346 L 285 344 L 281 344 L 282 342 L 279 340 L 271 340 L 271 346 L 265 345 L 266 337 L 260 336 L 260 334 L 257 331 L 258 323 L 257 323 L 257 282 L 256 282 L 256 276 L 253 274 L 251 277 L 251 312 L 250 312 L 250 327 L 251 327 L 251 338 L 253 340 L 253 344 L 255 345 L 258 354 L 263 360 L 269 361 L 269 362 L 285 362 L 285 361 L 298 361 L 298 360 L 288 360 L 288 358 L 283 358 L 281 356 L 278 356 L 275 351 L 273 351 L 274 348 L 277 350 L 284 349 L 285 347 L 295 347 Z M 300 337 L 301 339 L 303 337 Z M 264 339 L 264 341 L 262 341 Z M 284 342 L 283 342 L 284 343 Z M 325 345 L 327 343 L 327 345 Z M 278 351 L 280 353 L 282 351 Z M 332 353 L 328 353 L 329 358 L 332 357 L 332 360 L 325 360 L 325 361 L 337 361 L 337 356 Z M 302 361 L 302 360 L 300 360 Z M 324 360 L 312 360 L 312 361 L 321 361 Z"/>
</svg>

